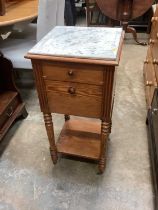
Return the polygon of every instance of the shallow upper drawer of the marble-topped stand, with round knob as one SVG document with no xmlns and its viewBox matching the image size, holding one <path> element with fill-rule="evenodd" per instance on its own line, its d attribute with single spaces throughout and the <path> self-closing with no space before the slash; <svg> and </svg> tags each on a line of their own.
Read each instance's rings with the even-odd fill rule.
<svg viewBox="0 0 158 210">
<path fill-rule="evenodd" d="M 99 65 L 65 64 L 43 62 L 44 79 L 56 81 L 72 81 L 86 84 L 103 84 L 103 69 Z"/>
</svg>

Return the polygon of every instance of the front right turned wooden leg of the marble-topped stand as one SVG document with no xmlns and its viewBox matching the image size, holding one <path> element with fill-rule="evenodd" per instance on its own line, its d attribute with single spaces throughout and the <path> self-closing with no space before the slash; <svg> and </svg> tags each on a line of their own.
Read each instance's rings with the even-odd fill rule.
<svg viewBox="0 0 158 210">
<path fill-rule="evenodd" d="M 105 153 L 107 149 L 107 140 L 109 137 L 109 133 L 111 130 L 111 123 L 107 123 L 102 121 L 101 124 L 101 154 L 100 154 L 100 160 L 99 160 L 99 173 L 102 174 L 105 169 Z"/>
</svg>

